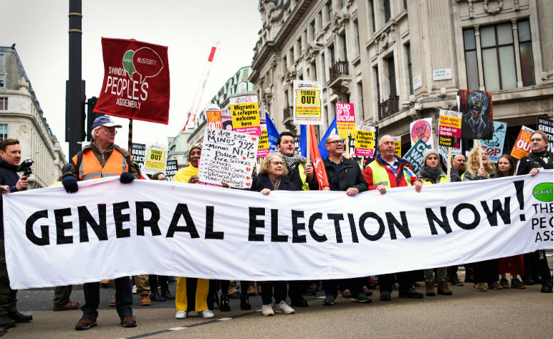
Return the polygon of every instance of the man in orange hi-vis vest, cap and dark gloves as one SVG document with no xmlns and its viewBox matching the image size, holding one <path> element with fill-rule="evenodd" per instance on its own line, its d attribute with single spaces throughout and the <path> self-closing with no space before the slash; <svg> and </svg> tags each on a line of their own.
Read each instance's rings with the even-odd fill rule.
<svg viewBox="0 0 554 339">
<path fill-rule="evenodd" d="M 129 152 L 114 144 L 115 129 L 120 127 L 107 115 L 95 119 L 92 142 L 73 156 L 70 171 L 63 173 L 62 184 L 68 193 L 77 192 L 77 181 L 81 180 L 119 176 L 121 183 L 131 183 L 135 178 L 140 178 L 137 163 L 131 161 Z M 98 318 L 100 282 L 83 284 L 83 291 L 83 318 L 75 325 L 75 330 L 88 330 L 96 325 Z M 115 279 L 115 310 L 123 327 L 137 325 L 132 316 L 132 291 L 128 276 Z"/>
</svg>

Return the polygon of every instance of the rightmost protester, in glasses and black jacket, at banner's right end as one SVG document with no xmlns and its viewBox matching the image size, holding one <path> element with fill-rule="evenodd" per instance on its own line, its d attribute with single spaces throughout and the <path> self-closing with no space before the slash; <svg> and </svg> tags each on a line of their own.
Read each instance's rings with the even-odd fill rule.
<svg viewBox="0 0 554 339">
<path fill-rule="evenodd" d="M 535 131 L 531 134 L 531 153 L 524 156 L 518 162 L 516 175 L 523 176 L 531 174 L 536 176 L 543 169 L 553 168 L 553 154 L 547 151 L 548 136 L 543 131 Z M 552 275 L 548 268 L 546 254 L 544 249 L 530 254 L 531 264 L 539 270 L 543 287 L 540 289 L 543 293 L 552 293 Z"/>
</svg>

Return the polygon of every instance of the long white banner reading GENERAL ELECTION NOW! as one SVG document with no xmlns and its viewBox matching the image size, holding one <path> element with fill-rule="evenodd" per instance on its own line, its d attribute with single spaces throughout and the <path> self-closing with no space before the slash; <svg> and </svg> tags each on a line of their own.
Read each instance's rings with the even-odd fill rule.
<svg viewBox="0 0 554 339">
<path fill-rule="evenodd" d="M 318 280 L 479 262 L 552 248 L 553 171 L 344 192 L 119 178 L 4 195 L 13 289 L 136 274 Z"/>
</svg>

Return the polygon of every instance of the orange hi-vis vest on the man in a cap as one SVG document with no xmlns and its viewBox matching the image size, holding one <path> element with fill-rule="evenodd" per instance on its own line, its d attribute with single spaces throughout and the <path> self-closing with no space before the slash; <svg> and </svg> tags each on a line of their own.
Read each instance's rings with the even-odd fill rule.
<svg viewBox="0 0 554 339">
<path fill-rule="evenodd" d="M 79 166 L 79 180 L 90 180 L 105 178 L 107 176 L 120 176 L 121 173 L 127 172 L 129 165 L 127 159 L 115 148 L 110 154 L 110 158 L 105 163 L 104 167 L 94 155 L 92 150 L 83 152 L 83 160 L 77 164 L 78 155 L 73 156 L 73 163 Z"/>
</svg>

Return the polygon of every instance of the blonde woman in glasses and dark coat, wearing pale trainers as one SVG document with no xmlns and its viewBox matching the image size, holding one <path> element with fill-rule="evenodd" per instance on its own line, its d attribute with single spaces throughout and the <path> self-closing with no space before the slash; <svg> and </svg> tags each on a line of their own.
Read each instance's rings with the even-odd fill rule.
<svg viewBox="0 0 554 339">
<path fill-rule="evenodd" d="M 296 190 L 295 185 L 286 176 L 288 169 L 283 157 L 278 153 L 271 153 L 263 159 L 260 165 L 260 173 L 254 177 L 251 190 L 268 195 L 272 190 Z M 286 303 L 287 287 L 283 281 L 263 281 L 261 283 L 261 315 L 273 316 L 273 303 L 275 298 L 275 312 L 291 314 L 294 309 Z"/>
</svg>

